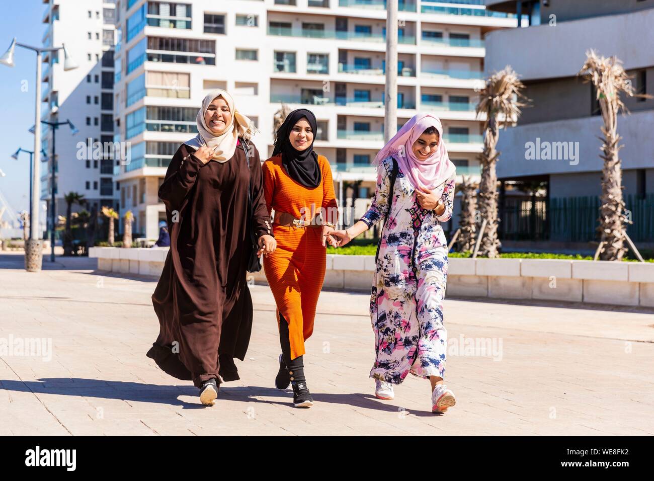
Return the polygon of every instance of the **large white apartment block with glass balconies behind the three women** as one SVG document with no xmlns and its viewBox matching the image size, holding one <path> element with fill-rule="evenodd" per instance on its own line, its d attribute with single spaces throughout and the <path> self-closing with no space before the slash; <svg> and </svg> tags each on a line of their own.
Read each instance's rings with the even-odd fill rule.
<svg viewBox="0 0 654 481">
<path fill-rule="evenodd" d="M 117 0 L 116 141 L 131 143 L 115 168 L 121 217 L 157 238 L 158 188 L 171 156 L 196 135 L 206 92 L 224 88 L 254 119 L 262 160 L 284 102 L 318 118 L 315 148 L 332 166 L 341 205 L 373 194 L 370 162 L 383 146 L 384 0 Z M 483 0 L 400 1 L 398 124 L 417 111 L 441 118 L 460 174 L 479 174 L 484 35 L 514 15 Z M 355 204 L 357 205 L 357 204 Z M 122 230 L 122 226 L 120 226 Z"/>
</svg>

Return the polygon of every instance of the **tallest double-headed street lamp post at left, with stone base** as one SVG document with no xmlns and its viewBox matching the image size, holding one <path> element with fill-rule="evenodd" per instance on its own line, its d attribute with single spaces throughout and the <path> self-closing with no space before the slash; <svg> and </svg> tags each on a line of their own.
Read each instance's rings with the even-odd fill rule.
<svg viewBox="0 0 654 481">
<path fill-rule="evenodd" d="M 37 81 L 36 81 L 36 106 L 34 115 L 34 168 L 32 171 L 32 184 L 34 187 L 39 185 L 41 179 L 41 56 L 43 52 L 58 52 L 63 48 L 64 63 L 63 69 L 65 71 L 77 68 L 77 63 L 68 55 L 65 46 L 56 46 L 41 48 L 36 46 L 24 45 L 16 42 L 16 37 L 11 41 L 11 45 L 7 52 L 0 57 L 0 63 L 8 67 L 14 66 L 14 50 L 16 45 L 32 50 L 37 54 Z M 29 239 L 25 246 L 25 268 L 29 272 L 38 272 L 41 270 L 41 262 L 43 260 L 43 240 L 42 234 L 39 234 L 39 189 L 33 188 L 32 198 L 30 199 L 31 211 L 35 215 L 35 219 L 31 219 L 29 224 Z M 54 249 L 54 246 L 53 246 Z"/>
</svg>

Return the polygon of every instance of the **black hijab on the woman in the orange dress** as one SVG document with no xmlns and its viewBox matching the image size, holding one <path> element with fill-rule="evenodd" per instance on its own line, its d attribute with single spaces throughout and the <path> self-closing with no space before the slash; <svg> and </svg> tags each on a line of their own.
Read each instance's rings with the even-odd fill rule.
<svg viewBox="0 0 654 481">
<path fill-rule="evenodd" d="M 291 145 L 288 137 L 295 124 L 301 118 L 306 118 L 309 121 L 311 130 L 313 131 L 313 140 L 307 149 L 298 151 Z M 273 157 L 281 152 L 282 165 L 286 169 L 286 173 L 288 173 L 291 179 L 307 188 L 318 187 L 322 180 L 322 172 L 320 172 L 320 168 L 318 167 L 318 154 L 313 151 L 313 142 L 316 139 L 317 130 L 318 122 L 313 112 L 307 109 L 298 109 L 286 116 L 286 119 L 279 126 L 277 135 L 275 136 Z"/>
</svg>

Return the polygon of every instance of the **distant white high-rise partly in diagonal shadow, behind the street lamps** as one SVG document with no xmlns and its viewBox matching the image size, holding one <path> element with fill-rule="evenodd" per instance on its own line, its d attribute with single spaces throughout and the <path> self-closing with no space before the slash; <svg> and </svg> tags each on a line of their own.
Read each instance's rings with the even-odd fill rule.
<svg viewBox="0 0 654 481">
<path fill-rule="evenodd" d="M 63 71 L 63 50 L 43 55 L 41 118 L 50 122 L 70 120 L 78 130 L 73 135 L 68 125 L 57 129 L 56 213 L 65 215 L 63 196 L 69 192 L 83 194 L 89 210 L 94 205 L 98 210 L 102 205 L 116 207 L 114 161 L 92 158 L 92 154 L 80 160 L 77 147 L 87 139 L 92 139 L 91 143 L 113 140 L 114 0 L 43 0 L 43 3 L 46 5 L 42 19 L 46 24 L 43 46 L 65 45 L 78 64 L 77 69 Z M 41 166 L 40 189 L 41 200 L 48 204 L 49 223 L 52 128 L 41 126 L 42 145 L 49 160 Z"/>
</svg>

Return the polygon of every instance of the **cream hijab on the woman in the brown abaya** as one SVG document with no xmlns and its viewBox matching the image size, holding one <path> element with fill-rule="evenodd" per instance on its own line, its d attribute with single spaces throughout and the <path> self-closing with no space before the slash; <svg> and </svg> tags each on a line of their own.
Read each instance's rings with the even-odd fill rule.
<svg viewBox="0 0 654 481">
<path fill-rule="evenodd" d="M 224 132 L 219 135 L 211 132 L 205 122 L 205 113 L 207 113 L 209 105 L 211 105 L 211 102 L 213 102 L 216 97 L 222 97 L 224 101 L 227 102 L 230 113 L 232 113 L 230 124 Z M 196 116 L 196 122 L 198 124 L 198 135 L 184 143 L 188 145 L 188 147 L 196 149 L 196 151 L 200 147 L 209 147 L 209 149 L 216 147 L 216 151 L 211 159 L 217 160 L 218 162 L 227 162 L 232 158 L 234 151 L 236 150 L 238 137 L 243 137 L 246 140 L 249 140 L 252 135 L 258 132 L 254 127 L 254 124 L 252 124 L 252 120 L 234 108 L 234 99 L 232 96 L 225 90 L 220 89 L 212 90 L 203 99 L 202 107 L 198 111 L 198 116 Z"/>
</svg>

